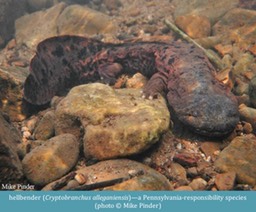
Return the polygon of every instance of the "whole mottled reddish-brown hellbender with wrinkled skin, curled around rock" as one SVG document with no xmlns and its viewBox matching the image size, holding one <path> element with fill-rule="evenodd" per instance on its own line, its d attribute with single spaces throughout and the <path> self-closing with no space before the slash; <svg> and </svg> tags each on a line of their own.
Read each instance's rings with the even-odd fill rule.
<svg viewBox="0 0 256 212">
<path fill-rule="evenodd" d="M 38 45 L 30 69 L 24 98 L 34 105 L 79 84 L 113 84 L 121 74 L 140 72 L 149 78 L 144 95 L 165 94 L 177 118 L 199 134 L 223 136 L 239 121 L 235 96 L 215 79 L 201 50 L 188 43 L 109 44 L 59 36 Z"/>
</svg>

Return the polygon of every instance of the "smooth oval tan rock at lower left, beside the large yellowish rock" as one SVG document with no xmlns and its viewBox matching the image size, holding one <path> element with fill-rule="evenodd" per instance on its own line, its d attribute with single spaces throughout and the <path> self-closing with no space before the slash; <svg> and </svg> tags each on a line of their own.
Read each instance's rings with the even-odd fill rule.
<svg viewBox="0 0 256 212">
<path fill-rule="evenodd" d="M 72 169 L 78 160 L 79 142 L 71 134 L 62 134 L 44 142 L 22 160 L 27 179 L 46 185 Z"/>
</svg>

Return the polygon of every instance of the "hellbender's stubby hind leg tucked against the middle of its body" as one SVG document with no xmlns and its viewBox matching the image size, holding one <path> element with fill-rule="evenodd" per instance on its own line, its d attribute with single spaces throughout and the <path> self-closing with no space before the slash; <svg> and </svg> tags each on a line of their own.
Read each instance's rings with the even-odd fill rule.
<svg viewBox="0 0 256 212">
<path fill-rule="evenodd" d="M 100 65 L 97 70 L 103 83 L 113 85 L 122 69 L 123 67 L 119 63 L 112 63 Z"/>
</svg>

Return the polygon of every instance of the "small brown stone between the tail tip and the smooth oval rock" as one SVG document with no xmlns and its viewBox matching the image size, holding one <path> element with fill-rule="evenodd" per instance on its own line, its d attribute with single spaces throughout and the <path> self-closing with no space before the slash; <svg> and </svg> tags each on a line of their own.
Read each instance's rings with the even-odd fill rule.
<svg viewBox="0 0 256 212">
<path fill-rule="evenodd" d="M 53 111 L 48 111 L 43 118 L 39 121 L 34 131 L 36 140 L 47 140 L 51 138 L 54 133 L 55 114 Z"/>
</svg>

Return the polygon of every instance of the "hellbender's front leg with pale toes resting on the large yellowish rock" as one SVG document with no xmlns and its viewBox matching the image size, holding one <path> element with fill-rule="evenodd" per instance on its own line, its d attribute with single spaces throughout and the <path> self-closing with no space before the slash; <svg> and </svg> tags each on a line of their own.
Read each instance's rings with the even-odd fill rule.
<svg viewBox="0 0 256 212">
<path fill-rule="evenodd" d="M 155 73 L 143 89 L 143 98 L 154 99 L 167 90 L 167 76 L 161 72 Z"/>
</svg>

